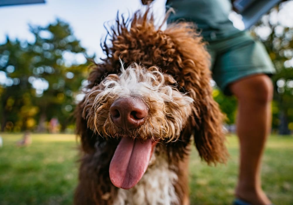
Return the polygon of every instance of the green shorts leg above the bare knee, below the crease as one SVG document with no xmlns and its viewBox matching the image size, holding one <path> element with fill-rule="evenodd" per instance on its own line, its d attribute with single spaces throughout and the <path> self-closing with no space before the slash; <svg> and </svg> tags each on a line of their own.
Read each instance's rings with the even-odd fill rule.
<svg viewBox="0 0 293 205">
<path fill-rule="evenodd" d="M 248 32 L 210 41 L 207 50 L 211 55 L 212 77 L 226 95 L 231 95 L 228 85 L 241 78 L 275 73 L 264 45 Z"/>
</svg>

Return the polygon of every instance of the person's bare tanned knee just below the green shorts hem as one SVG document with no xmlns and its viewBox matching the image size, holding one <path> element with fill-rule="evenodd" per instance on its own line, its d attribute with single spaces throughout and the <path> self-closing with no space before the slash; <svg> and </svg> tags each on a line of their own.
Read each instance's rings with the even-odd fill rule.
<svg viewBox="0 0 293 205">
<path fill-rule="evenodd" d="M 231 91 L 239 100 L 253 100 L 261 104 L 268 103 L 273 97 L 273 85 L 267 75 L 256 75 L 241 79 L 231 86 Z"/>
</svg>

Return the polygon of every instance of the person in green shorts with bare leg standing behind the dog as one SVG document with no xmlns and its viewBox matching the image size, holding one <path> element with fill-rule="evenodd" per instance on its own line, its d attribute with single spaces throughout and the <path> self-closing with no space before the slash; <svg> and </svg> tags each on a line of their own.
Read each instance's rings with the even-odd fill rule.
<svg viewBox="0 0 293 205">
<path fill-rule="evenodd" d="M 143 4 L 149 3 L 143 1 Z M 238 99 L 239 177 L 235 205 L 271 204 L 261 187 L 261 159 L 271 129 L 274 66 L 264 48 L 247 31 L 234 28 L 228 0 L 167 0 L 175 10 L 167 23 L 194 22 L 211 55 L 212 77 L 226 95 Z"/>
</svg>

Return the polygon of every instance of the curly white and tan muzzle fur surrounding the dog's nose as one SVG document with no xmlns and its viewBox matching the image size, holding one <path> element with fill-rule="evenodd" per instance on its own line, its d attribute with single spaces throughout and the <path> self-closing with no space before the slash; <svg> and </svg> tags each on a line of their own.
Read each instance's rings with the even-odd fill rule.
<svg viewBox="0 0 293 205">
<path fill-rule="evenodd" d="M 167 76 L 173 80 L 171 76 Z M 131 130 L 131 135 L 116 127 L 110 119 L 110 105 L 121 97 L 139 97 L 149 107 L 147 123 L 139 129 Z M 182 95 L 176 87 L 165 84 L 165 78 L 157 67 L 149 69 L 133 64 L 120 76 L 108 75 L 99 86 L 94 86 L 86 95 L 82 117 L 87 119 L 88 127 L 101 136 L 132 136 L 154 141 L 173 141 L 180 135 L 183 124 L 191 112 L 193 99 Z M 161 125 L 161 126 L 155 126 Z M 102 131 L 102 133 L 99 133 Z"/>
</svg>

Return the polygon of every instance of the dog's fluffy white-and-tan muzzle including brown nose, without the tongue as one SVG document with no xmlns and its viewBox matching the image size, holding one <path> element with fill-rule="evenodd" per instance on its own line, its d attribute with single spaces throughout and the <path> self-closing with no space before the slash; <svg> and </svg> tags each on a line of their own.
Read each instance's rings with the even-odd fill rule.
<svg viewBox="0 0 293 205">
<path fill-rule="evenodd" d="M 157 67 L 132 64 L 108 75 L 86 95 L 83 115 L 102 136 L 142 141 L 176 140 L 191 113 L 193 99 L 180 93 L 175 80 Z"/>
</svg>

